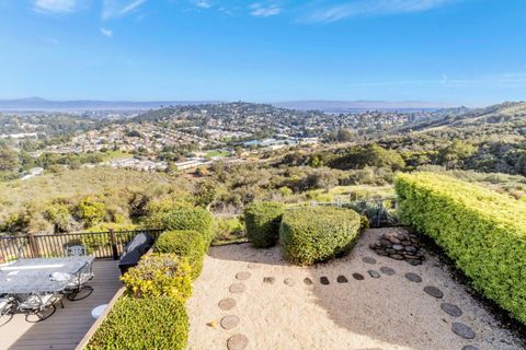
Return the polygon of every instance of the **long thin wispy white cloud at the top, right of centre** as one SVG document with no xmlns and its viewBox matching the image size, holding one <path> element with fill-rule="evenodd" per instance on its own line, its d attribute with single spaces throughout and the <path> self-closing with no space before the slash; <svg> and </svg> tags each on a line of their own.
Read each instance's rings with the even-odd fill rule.
<svg viewBox="0 0 526 350">
<path fill-rule="evenodd" d="M 359 15 L 389 15 L 431 11 L 462 0 L 358 0 L 317 9 L 304 22 L 330 23 Z"/>
</svg>

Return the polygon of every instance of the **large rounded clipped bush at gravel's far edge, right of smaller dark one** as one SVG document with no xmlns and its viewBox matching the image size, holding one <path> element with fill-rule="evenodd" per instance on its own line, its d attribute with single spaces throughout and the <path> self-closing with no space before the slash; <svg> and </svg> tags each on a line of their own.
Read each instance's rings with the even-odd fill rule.
<svg viewBox="0 0 526 350">
<path fill-rule="evenodd" d="M 351 209 L 305 207 L 283 214 L 279 242 L 284 257 L 312 265 L 351 252 L 359 236 L 362 219 Z"/>
</svg>

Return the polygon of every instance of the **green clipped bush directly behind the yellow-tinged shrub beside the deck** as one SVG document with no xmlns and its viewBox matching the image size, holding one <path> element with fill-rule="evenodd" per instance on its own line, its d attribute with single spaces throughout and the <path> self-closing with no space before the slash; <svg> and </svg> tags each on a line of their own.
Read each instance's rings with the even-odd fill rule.
<svg viewBox="0 0 526 350">
<path fill-rule="evenodd" d="M 205 237 L 197 231 L 168 231 L 162 233 L 153 246 L 156 253 L 173 253 L 188 259 L 192 277 L 196 279 L 203 270 L 207 248 Z"/>
</svg>

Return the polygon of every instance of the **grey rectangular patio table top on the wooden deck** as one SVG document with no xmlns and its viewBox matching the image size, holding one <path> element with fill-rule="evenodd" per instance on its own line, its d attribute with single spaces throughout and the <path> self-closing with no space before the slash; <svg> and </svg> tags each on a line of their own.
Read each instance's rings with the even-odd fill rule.
<svg viewBox="0 0 526 350">
<path fill-rule="evenodd" d="M 54 272 L 76 273 L 85 264 L 92 264 L 92 256 L 65 258 L 19 259 L 0 266 L 0 294 L 57 293 L 70 281 L 52 281 Z"/>
</svg>

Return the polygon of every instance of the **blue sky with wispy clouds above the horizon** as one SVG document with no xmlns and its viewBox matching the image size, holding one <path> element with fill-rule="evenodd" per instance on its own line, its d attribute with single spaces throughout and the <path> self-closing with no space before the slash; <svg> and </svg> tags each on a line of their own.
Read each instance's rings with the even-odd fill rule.
<svg viewBox="0 0 526 350">
<path fill-rule="evenodd" d="M 526 100 L 524 0 L 0 0 L 0 98 Z"/>
</svg>

